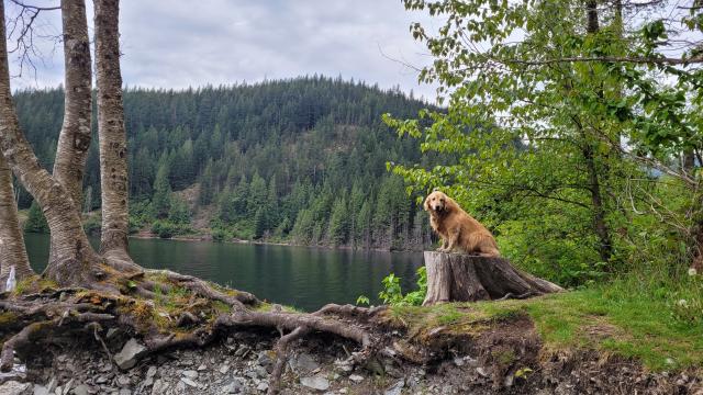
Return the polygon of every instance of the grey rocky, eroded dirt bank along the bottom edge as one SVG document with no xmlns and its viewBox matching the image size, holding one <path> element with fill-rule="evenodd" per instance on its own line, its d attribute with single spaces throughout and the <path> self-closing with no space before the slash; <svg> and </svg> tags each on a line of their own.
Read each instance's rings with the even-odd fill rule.
<svg viewBox="0 0 703 395">
<path fill-rule="evenodd" d="M 522 328 L 517 331 L 517 328 Z M 223 336 L 205 349 L 143 356 L 137 339 L 107 339 L 108 356 L 91 338 L 45 348 L 0 374 L 0 394 L 264 394 L 272 370 L 276 334 Z M 403 334 L 389 334 L 397 342 Z M 283 394 L 696 394 L 699 375 L 647 372 L 633 361 L 595 352 L 546 358 L 525 323 L 478 337 L 435 343 L 420 363 L 372 359 L 353 366 L 355 346 L 328 336 L 291 345 Z M 113 361 L 113 362 L 111 362 Z M 19 360 L 18 360 L 19 362 Z"/>
</svg>

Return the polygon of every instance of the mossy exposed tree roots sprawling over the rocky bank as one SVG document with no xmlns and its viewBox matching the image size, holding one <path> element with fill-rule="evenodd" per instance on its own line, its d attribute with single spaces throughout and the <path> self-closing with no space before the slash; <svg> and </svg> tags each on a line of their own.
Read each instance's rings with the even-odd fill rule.
<svg viewBox="0 0 703 395">
<path fill-rule="evenodd" d="M 364 308 L 330 304 L 311 314 L 266 306 L 247 292 L 224 289 L 167 270 L 130 272 L 110 284 L 90 289 L 27 290 L 24 295 L 0 294 L 0 315 L 9 315 L 0 334 L 8 340 L 0 353 L 0 370 L 12 369 L 15 351 L 26 356 L 32 347 L 62 337 L 88 336 L 112 360 L 101 332 L 118 328 L 143 339 L 149 352 L 203 347 L 222 334 L 249 328 L 278 329 L 276 363 L 269 394 L 276 394 L 290 343 L 313 332 L 326 332 L 358 343 L 353 360 L 362 363 L 380 350 L 382 336 L 369 323 L 384 307 Z M 100 289 L 100 290 L 96 290 Z M 108 290 L 108 291 L 105 291 Z M 115 291 L 116 290 L 116 291 Z"/>
</svg>

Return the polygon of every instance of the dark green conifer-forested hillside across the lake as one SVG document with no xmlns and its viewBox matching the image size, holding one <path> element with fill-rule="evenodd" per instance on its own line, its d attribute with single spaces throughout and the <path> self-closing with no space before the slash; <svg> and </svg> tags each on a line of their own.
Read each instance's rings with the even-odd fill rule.
<svg viewBox="0 0 703 395">
<path fill-rule="evenodd" d="M 15 99 L 27 138 L 51 169 L 64 92 L 20 91 Z M 381 123 L 382 113 L 412 116 L 426 103 L 305 77 L 183 91 L 127 88 L 124 105 L 133 232 L 370 248 L 421 248 L 428 239 L 415 199 L 386 163 L 432 159 Z M 97 143 L 85 212 L 100 208 Z M 29 207 L 31 196 L 22 191 L 19 203 Z M 94 219 L 87 226 L 99 229 Z"/>
</svg>

